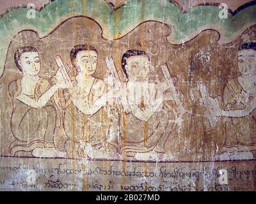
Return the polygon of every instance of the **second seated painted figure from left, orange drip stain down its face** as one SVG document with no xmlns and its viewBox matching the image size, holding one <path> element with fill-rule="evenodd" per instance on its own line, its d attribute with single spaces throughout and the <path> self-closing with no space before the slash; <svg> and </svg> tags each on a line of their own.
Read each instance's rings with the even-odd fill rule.
<svg viewBox="0 0 256 204">
<path fill-rule="evenodd" d="M 70 104 L 65 110 L 64 127 L 68 136 L 65 149 L 70 157 L 109 158 L 113 151 L 109 153 L 108 135 L 113 134 L 118 125 L 108 99 L 115 90 L 109 91 L 103 80 L 93 77 L 98 62 L 95 48 L 77 45 L 70 52 L 70 58 L 77 75 L 71 77 L 75 85 L 69 91 Z"/>
</svg>

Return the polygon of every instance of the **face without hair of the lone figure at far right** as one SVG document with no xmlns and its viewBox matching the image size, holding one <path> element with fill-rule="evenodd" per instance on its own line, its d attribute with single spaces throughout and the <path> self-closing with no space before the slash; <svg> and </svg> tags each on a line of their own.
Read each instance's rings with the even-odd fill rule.
<svg viewBox="0 0 256 204">
<path fill-rule="evenodd" d="M 238 52 L 238 68 L 242 75 L 256 73 L 256 51 L 241 50 Z"/>
</svg>

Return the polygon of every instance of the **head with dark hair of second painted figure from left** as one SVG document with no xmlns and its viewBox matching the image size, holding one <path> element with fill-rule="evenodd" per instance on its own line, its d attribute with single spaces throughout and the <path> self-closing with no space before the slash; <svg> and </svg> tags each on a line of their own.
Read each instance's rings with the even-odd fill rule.
<svg viewBox="0 0 256 204">
<path fill-rule="evenodd" d="M 70 52 L 70 59 L 78 73 L 92 75 L 97 68 L 97 50 L 88 45 L 76 45 Z"/>
</svg>

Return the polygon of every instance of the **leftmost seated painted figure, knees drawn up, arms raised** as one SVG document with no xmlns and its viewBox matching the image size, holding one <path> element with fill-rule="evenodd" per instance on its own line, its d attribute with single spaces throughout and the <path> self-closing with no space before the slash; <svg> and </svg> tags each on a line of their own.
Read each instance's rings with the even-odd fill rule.
<svg viewBox="0 0 256 204">
<path fill-rule="evenodd" d="M 11 128 L 15 140 L 10 145 L 10 154 L 35 157 L 63 157 L 64 152 L 56 150 L 54 128 L 56 110 L 50 100 L 60 88 L 68 84 L 62 80 L 58 69 L 57 82 L 50 82 L 38 76 L 40 57 L 33 47 L 21 47 L 15 52 L 15 64 L 22 72 L 22 78 L 9 85 L 13 101 Z"/>
</svg>

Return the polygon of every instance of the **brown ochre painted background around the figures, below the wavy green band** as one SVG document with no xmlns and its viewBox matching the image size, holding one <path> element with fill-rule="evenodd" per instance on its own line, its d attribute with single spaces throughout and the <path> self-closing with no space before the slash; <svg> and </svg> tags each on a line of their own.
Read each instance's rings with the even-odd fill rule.
<svg viewBox="0 0 256 204">
<path fill-rule="evenodd" d="M 3 83 L 3 94 L 6 101 L 1 101 L 1 121 L 4 131 L 1 138 L 1 154 L 8 155 L 12 142 L 10 133 L 10 113 L 12 103 L 8 97 L 8 84 L 20 77 L 13 57 L 15 50 L 22 46 L 33 46 L 40 52 L 40 75 L 50 78 L 56 73 L 54 56 L 60 54 L 63 61 L 70 62 L 70 50 L 78 44 L 88 44 L 97 48 L 99 62 L 95 77 L 106 77 L 104 57 L 112 55 L 116 67 L 121 68 L 121 57 L 126 50 L 145 50 L 151 55 L 152 65 L 156 75 L 163 80 L 159 66 L 167 63 L 172 76 L 178 78 L 177 91 L 184 95 L 184 106 L 189 113 L 184 115 L 182 125 L 174 131 L 166 142 L 166 153 L 172 153 L 172 161 L 212 161 L 218 147 L 225 140 L 224 120 L 218 121 L 216 128 L 211 128 L 204 115 L 204 109 L 199 106 L 198 84 L 206 84 L 211 96 L 221 96 L 228 80 L 238 76 L 237 50 L 244 39 L 256 39 L 256 27 L 251 27 L 239 39 L 227 45 L 219 45 L 219 35 L 216 31 L 204 31 L 193 40 L 182 45 L 172 45 L 166 40 L 171 29 L 159 22 L 144 22 L 126 36 L 107 41 L 102 38 L 100 26 L 92 19 L 75 17 L 61 24 L 56 31 L 45 38 L 38 38 L 33 31 L 22 31 L 13 39 L 6 59 Z M 75 75 L 72 68 L 70 75 Z M 97 113 L 96 113 L 97 114 Z M 251 135 L 255 137 L 255 135 Z M 218 146 L 218 147 L 217 147 Z"/>
</svg>

